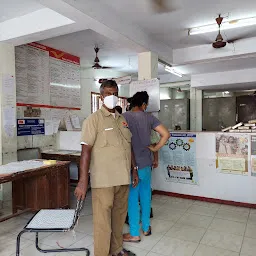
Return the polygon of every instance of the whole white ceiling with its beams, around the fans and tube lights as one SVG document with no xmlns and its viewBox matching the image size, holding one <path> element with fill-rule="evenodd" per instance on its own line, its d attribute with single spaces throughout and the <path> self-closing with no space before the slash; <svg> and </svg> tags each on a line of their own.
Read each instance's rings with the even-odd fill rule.
<svg viewBox="0 0 256 256">
<path fill-rule="evenodd" d="M 216 33 L 188 36 L 188 29 L 214 23 L 219 13 L 229 20 L 256 16 L 255 0 L 169 0 L 169 5 L 174 6 L 175 10 L 165 14 L 153 13 L 149 3 L 149 0 L 0 0 L 0 23 L 44 7 L 50 8 L 74 20 L 75 24 L 27 35 L 19 42 L 40 41 L 55 36 L 41 43 L 80 56 L 85 68 L 93 64 L 93 48 L 97 44 L 101 48 L 99 58 L 102 66 L 112 66 L 117 71 L 134 74 L 138 69 L 137 54 L 142 50 L 155 51 L 161 57 L 168 55 L 166 59 L 172 63 L 172 48 L 209 43 L 210 49 Z M 70 32 L 74 33 L 67 34 Z M 254 36 L 256 26 L 223 32 L 223 37 L 229 40 Z M 175 82 L 188 80 L 191 74 L 253 68 L 256 66 L 253 45 L 255 43 L 250 42 L 250 45 L 244 44 L 243 49 L 237 48 L 245 58 L 237 54 L 236 58 L 218 61 L 212 58 L 214 60 L 209 61 L 209 54 L 205 53 L 201 58 L 204 62 L 176 66 L 177 71 L 185 74 L 182 79 L 167 73 L 161 65 L 159 74 L 164 77 L 163 81 Z M 243 53 L 248 48 L 251 50 L 248 55 L 252 53 L 253 57 Z"/>
</svg>

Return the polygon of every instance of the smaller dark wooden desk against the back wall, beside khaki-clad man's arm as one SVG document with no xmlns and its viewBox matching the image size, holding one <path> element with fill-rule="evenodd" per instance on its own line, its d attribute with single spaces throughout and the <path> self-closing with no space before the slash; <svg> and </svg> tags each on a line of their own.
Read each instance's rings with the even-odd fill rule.
<svg viewBox="0 0 256 256">
<path fill-rule="evenodd" d="M 80 170 L 80 156 L 81 152 L 79 151 L 64 151 L 64 150 L 57 150 L 57 151 L 43 151 L 41 153 L 43 159 L 52 159 L 52 160 L 59 160 L 59 161 L 69 161 L 72 163 L 76 163 L 78 168 L 78 180 L 79 180 L 79 170 Z M 77 183 L 78 180 L 71 180 L 71 182 Z"/>
</svg>

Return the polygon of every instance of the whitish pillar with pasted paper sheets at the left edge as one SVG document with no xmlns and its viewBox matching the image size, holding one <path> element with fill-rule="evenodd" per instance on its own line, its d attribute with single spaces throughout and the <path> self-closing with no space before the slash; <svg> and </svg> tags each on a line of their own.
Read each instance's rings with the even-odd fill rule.
<svg viewBox="0 0 256 256">
<path fill-rule="evenodd" d="M 17 132 L 15 47 L 6 43 L 0 43 L 0 92 L 0 164 L 7 164 L 17 160 Z M 1 200 L 11 200 L 11 184 L 0 189 Z"/>
</svg>

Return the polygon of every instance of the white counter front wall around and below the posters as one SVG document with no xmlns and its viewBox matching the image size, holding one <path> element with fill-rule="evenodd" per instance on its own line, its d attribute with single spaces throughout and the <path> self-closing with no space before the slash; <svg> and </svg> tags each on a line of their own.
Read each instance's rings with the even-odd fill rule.
<svg viewBox="0 0 256 256">
<path fill-rule="evenodd" d="M 256 204 L 256 177 L 250 176 L 250 172 L 248 176 L 217 172 L 215 133 L 197 133 L 196 159 L 198 186 L 166 182 L 164 171 L 158 168 L 153 171 L 153 188 L 179 194 Z"/>
</svg>

